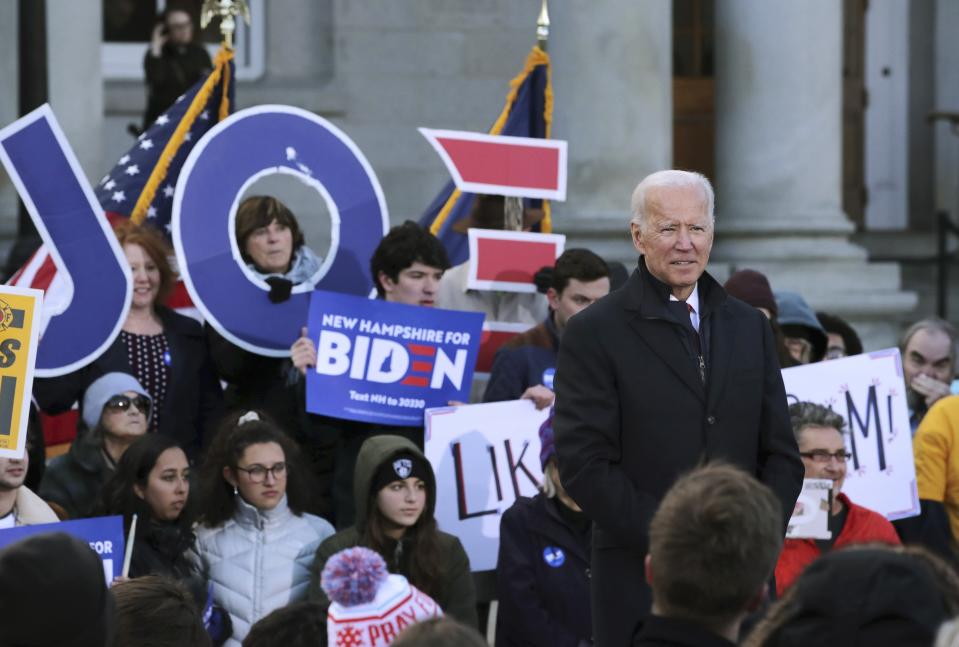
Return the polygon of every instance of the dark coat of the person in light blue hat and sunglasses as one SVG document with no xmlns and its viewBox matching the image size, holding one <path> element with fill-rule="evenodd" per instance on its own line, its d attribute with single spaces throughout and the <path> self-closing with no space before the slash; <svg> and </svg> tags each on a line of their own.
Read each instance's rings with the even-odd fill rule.
<svg viewBox="0 0 959 647">
<path fill-rule="evenodd" d="M 82 519 L 93 515 L 112 474 L 103 455 L 103 437 L 87 433 L 73 441 L 66 454 L 50 461 L 37 494 L 61 506 L 71 519 Z"/>
</svg>

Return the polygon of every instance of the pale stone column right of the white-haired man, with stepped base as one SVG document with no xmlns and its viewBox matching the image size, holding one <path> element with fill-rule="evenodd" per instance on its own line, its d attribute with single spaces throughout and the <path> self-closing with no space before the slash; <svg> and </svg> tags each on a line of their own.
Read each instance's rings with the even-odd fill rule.
<svg viewBox="0 0 959 647">
<path fill-rule="evenodd" d="M 899 266 L 869 264 L 842 212 L 842 3 L 716 4 L 716 243 L 848 318 L 867 349 L 894 345 L 915 305 Z"/>
</svg>

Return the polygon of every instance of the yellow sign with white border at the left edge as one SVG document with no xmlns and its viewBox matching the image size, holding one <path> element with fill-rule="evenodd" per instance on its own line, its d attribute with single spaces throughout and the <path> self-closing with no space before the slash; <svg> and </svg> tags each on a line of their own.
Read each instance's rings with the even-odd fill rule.
<svg viewBox="0 0 959 647">
<path fill-rule="evenodd" d="M 0 286 L 0 458 L 23 458 L 43 293 Z"/>
</svg>

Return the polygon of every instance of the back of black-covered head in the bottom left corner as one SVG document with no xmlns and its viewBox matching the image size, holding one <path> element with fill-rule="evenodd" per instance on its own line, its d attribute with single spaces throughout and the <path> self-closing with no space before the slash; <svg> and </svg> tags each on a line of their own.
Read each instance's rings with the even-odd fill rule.
<svg viewBox="0 0 959 647">
<path fill-rule="evenodd" d="M 0 551 L 0 645 L 103 647 L 115 613 L 103 562 L 85 542 L 49 533 Z"/>
</svg>

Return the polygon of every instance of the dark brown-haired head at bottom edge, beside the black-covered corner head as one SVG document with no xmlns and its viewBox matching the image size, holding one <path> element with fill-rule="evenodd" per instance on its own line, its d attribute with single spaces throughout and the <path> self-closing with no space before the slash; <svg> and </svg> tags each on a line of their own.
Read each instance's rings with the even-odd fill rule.
<svg viewBox="0 0 959 647">
<path fill-rule="evenodd" d="M 114 647 L 209 647 L 196 601 L 179 582 L 147 575 L 113 587 L 117 601 Z"/>
</svg>

